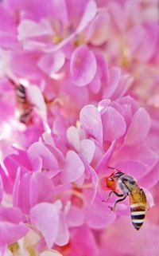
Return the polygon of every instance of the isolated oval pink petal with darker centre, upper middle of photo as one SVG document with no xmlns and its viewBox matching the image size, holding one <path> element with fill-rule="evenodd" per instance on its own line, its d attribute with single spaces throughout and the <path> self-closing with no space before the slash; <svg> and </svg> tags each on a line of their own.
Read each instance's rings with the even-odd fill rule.
<svg viewBox="0 0 159 256">
<path fill-rule="evenodd" d="M 72 53 L 70 72 L 75 85 L 88 85 L 95 77 L 96 69 L 95 55 L 86 45 L 81 45 Z"/>
</svg>

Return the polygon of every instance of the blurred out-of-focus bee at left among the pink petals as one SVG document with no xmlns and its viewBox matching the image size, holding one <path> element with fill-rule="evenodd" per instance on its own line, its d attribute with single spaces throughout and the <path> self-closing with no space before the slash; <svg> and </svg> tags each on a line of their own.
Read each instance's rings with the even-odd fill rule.
<svg viewBox="0 0 159 256">
<path fill-rule="evenodd" d="M 10 79 L 12 85 L 14 85 L 17 100 L 17 118 L 23 124 L 32 123 L 33 106 L 29 104 L 26 95 L 26 88 L 24 85 L 16 85 L 14 81 Z"/>
</svg>

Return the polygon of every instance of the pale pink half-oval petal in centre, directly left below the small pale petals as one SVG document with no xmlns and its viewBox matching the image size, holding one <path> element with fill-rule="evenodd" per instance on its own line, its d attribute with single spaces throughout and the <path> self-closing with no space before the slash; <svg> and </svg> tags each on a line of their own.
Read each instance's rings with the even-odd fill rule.
<svg viewBox="0 0 159 256">
<path fill-rule="evenodd" d="M 72 183 L 83 175 L 84 165 L 80 157 L 72 150 L 68 151 L 64 164 L 64 171 L 61 173 L 61 180 L 64 183 Z"/>
</svg>

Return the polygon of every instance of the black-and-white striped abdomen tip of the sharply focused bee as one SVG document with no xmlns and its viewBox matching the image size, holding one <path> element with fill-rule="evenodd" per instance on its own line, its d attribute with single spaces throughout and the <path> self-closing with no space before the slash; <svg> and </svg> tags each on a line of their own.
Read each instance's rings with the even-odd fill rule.
<svg viewBox="0 0 159 256">
<path fill-rule="evenodd" d="M 134 228 L 139 230 L 145 219 L 145 203 L 132 203 L 130 215 Z"/>
</svg>

